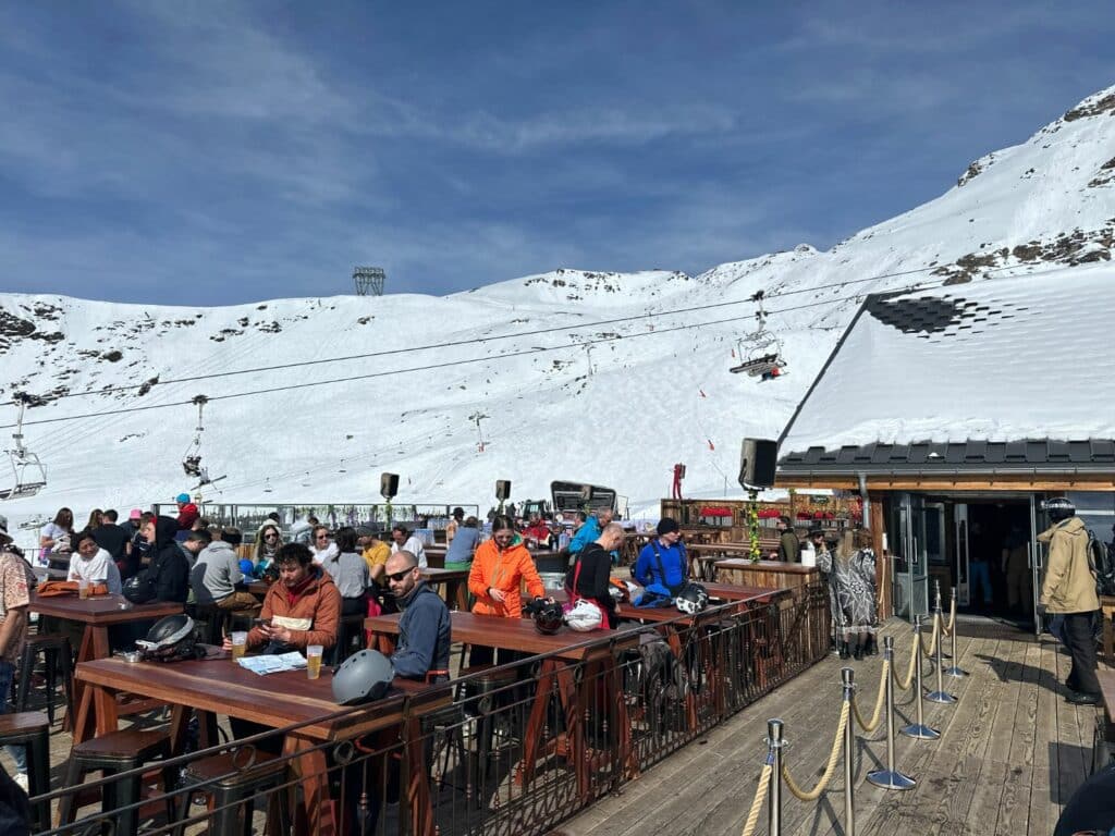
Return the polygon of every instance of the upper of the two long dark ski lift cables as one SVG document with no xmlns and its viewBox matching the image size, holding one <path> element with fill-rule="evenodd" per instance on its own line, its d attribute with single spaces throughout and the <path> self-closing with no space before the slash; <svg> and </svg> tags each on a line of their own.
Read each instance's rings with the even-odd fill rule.
<svg viewBox="0 0 1115 836">
<path fill-rule="evenodd" d="M 1010 266 L 1017 268 L 1017 265 L 1010 265 Z M 716 309 L 719 309 L 719 308 L 727 308 L 727 307 L 737 305 L 737 304 L 755 304 L 756 302 L 759 302 L 762 304 L 762 300 L 763 299 L 769 300 L 769 299 L 776 299 L 776 298 L 779 298 L 779 297 L 796 295 L 796 294 L 799 294 L 799 293 L 815 293 L 815 292 L 817 292 L 820 290 L 826 290 L 826 289 L 831 289 L 831 288 L 844 288 L 844 286 L 846 286 L 849 284 L 860 284 L 860 283 L 863 283 L 863 282 L 880 281 L 882 279 L 894 279 L 894 278 L 900 278 L 900 276 L 903 276 L 903 275 L 911 275 L 911 274 L 917 274 L 917 273 L 924 273 L 924 272 L 928 272 L 928 271 L 931 271 L 931 270 L 937 270 L 937 269 L 938 269 L 937 266 L 933 266 L 933 268 L 919 268 L 917 270 L 906 270 L 906 271 L 900 271 L 900 272 L 894 272 L 894 273 L 881 273 L 881 274 L 878 274 L 878 275 L 865 276 L 863 279 L 847 279 L 847 280 L 844 280 L 844 281 L 841 281 L 841 282 L 832 282 L 830 284 L 814 285 L 814 286 L 811 286 L 811 288 L 802 288 L 802 289 L 797 289 L 797 290 L 788 290 L 788 291 L 783 291 L 780 293 L 763 293 L 760 291 L 758 293 L 753 294 L 752 297 L 749 297 L 747 299 L 735 299 L 735 300 L 724 301 L 724 302 L 710 302 L 708 304 L 692 305 L 692 307 L 689 307 L 689 308 L 672 308 L 670 310 L 663 310 L 663 311 L 648 311 L 648 312 L 644 312 L 644 313 L 631 314 L 629 317 L 617 317 L 617 318 L 613 318 L 613 319 L 594 320 L 592 322 L 576 322 L 576 323 L 570 323 L 568 325 L 553 325 L 551 328 L 542 328 L 542 329 L 536 329 L 536 330 L 533 330 L 533 331 L 516 331 L 514 333 L 508 333 L 508 334 L 493 334 L 493 336 L 489 336 L 489 337 L 473 337 L 473 338 L 462 339 L 462 340 L 449 340 L 449 341 L 446 341 L 446 342 L 427 343 L 427 344 L 424 344 L 424 346 L 410 346 L 410 347 L 407 347 L 407 348 L 399 348 L 399 349 L 386 349 L 386 350 L 382 350 L 382 351 L 369 351 L 369 352 L 363 352 L 363 353 L 359 353 L 359 354 L 345 354 L 345 356 L 341 356 L 341 357 L 317 358 L 317 359 L 313 359 L 313 360 L 297 360 L 297 361 L 292 361 L 292 362 L 289 362 L 289 363 L 278 363 L 278 364 L 274 364 L 274 366 L 260 366 L 260 367 L 254 367 L 254 368 L 249 368 L 249 369 L 233 369 L 231 371 L 216 371 L 216 372 L 211 372 L 211 373 L 205 373 L 205 375 L 193 375 L 193 376 L 184 377 L 184 378 L 172 378 L 169 380 L 159 380 L 158 382 L 154 383 L 153 386 L 172 386 L 174 383 L 188 383 L 188 382 L 196 382 L 196 381 L 200 381 L 200 380 L 213 380 L 213 379 L 217 379 L 217 378 L 235 377 L 235 376 L 239 376 L 239 375 L 254 375 L 254 373 L 259 373 L 259 372 L 263 372 L 263 371 L 284 371 L 284 370 L 289 370 L 289 369 L 304 368 L 304 367 L 308 367 L 308 366 L 320 366 L 322 363 L 347 362 L 347 361 L 351 361 L 351 360 L 367 360 L 367 359 L 372 359 L 372 358 L 377 358 L 377 357 L 391 357 L 391 356 L 396 356 L 396 354 L 408 354 L 408 353 L 413 353 L 413 352 L 417 352 L 417 351 L 429 351 L 429 350 L 443 349 L 443 348 L 459 348 L 459 347 L 463 347 L 463 346 L 478 346 L 478 344 L 483 344 L 483 343 L 486 343 L 486 342 L 495 342 L 495 341 L 501 341 L 501 340 L 513 340 L 513 339 L 520 339 L 520 338 L 525 338 L 525 337 L 542 336 L 542 334 L 547 334 L 547 333 L 559 333 L 559 332 L 562 332 L 562 331 L 575 331 L 575 330 L 583 330 L 583 329 L 588 329 L 588 328 L 599 328 L 601 325 L 611 325 L 611 324 L 618 324 L 618 323 L 621 323 L 621 322 L 636 322 L 636 321 L 639 321 L 639 320 L 655 319 L 655 318 L 660 318 L 660 317 L 676 317 L 679 313 L 696 313 L 696 312 L 699 312 L 699 311 L 716 310 Z M 990 271 L 988 271 L 988 272 L 990 272 Z M 933 283 L 927 284 L 925 286 L 935 286 L 937 284 L 939 284 L 939 282 L 933 282 Z M 911 288 L 910 290 L 913 290 L 913 289 L 915 289 L 915 288 Z M 835 301 L 838 301 L 838 300 L 828 300 L 828 301 L 830 302 L 835 302 Z M 584 343 L 581 343 L 581 344 L 591 344 L 591 342 L 584 342 Z M 112 393 L 120 392 L 120 391 L 130 391 L 133 389 L 142 388 L 143 386 L 144 386 L 144 383 L 128 383 L 127 386 L 106 387 L 104 389 L 88 389 L 88 390 L 79 391 L 79 392 L 65 392 L 62 395 L 57 395 L 57 396 L 54 396 L 51 398 L 48 398 L 48 400 L 50 400 L 50 401 L 65 400 L 67 398 L 81 398 L 81 397 L 87 397 L 87 396 L 90 396 L 90 395 L 112 395 Z"/>
</svg>

